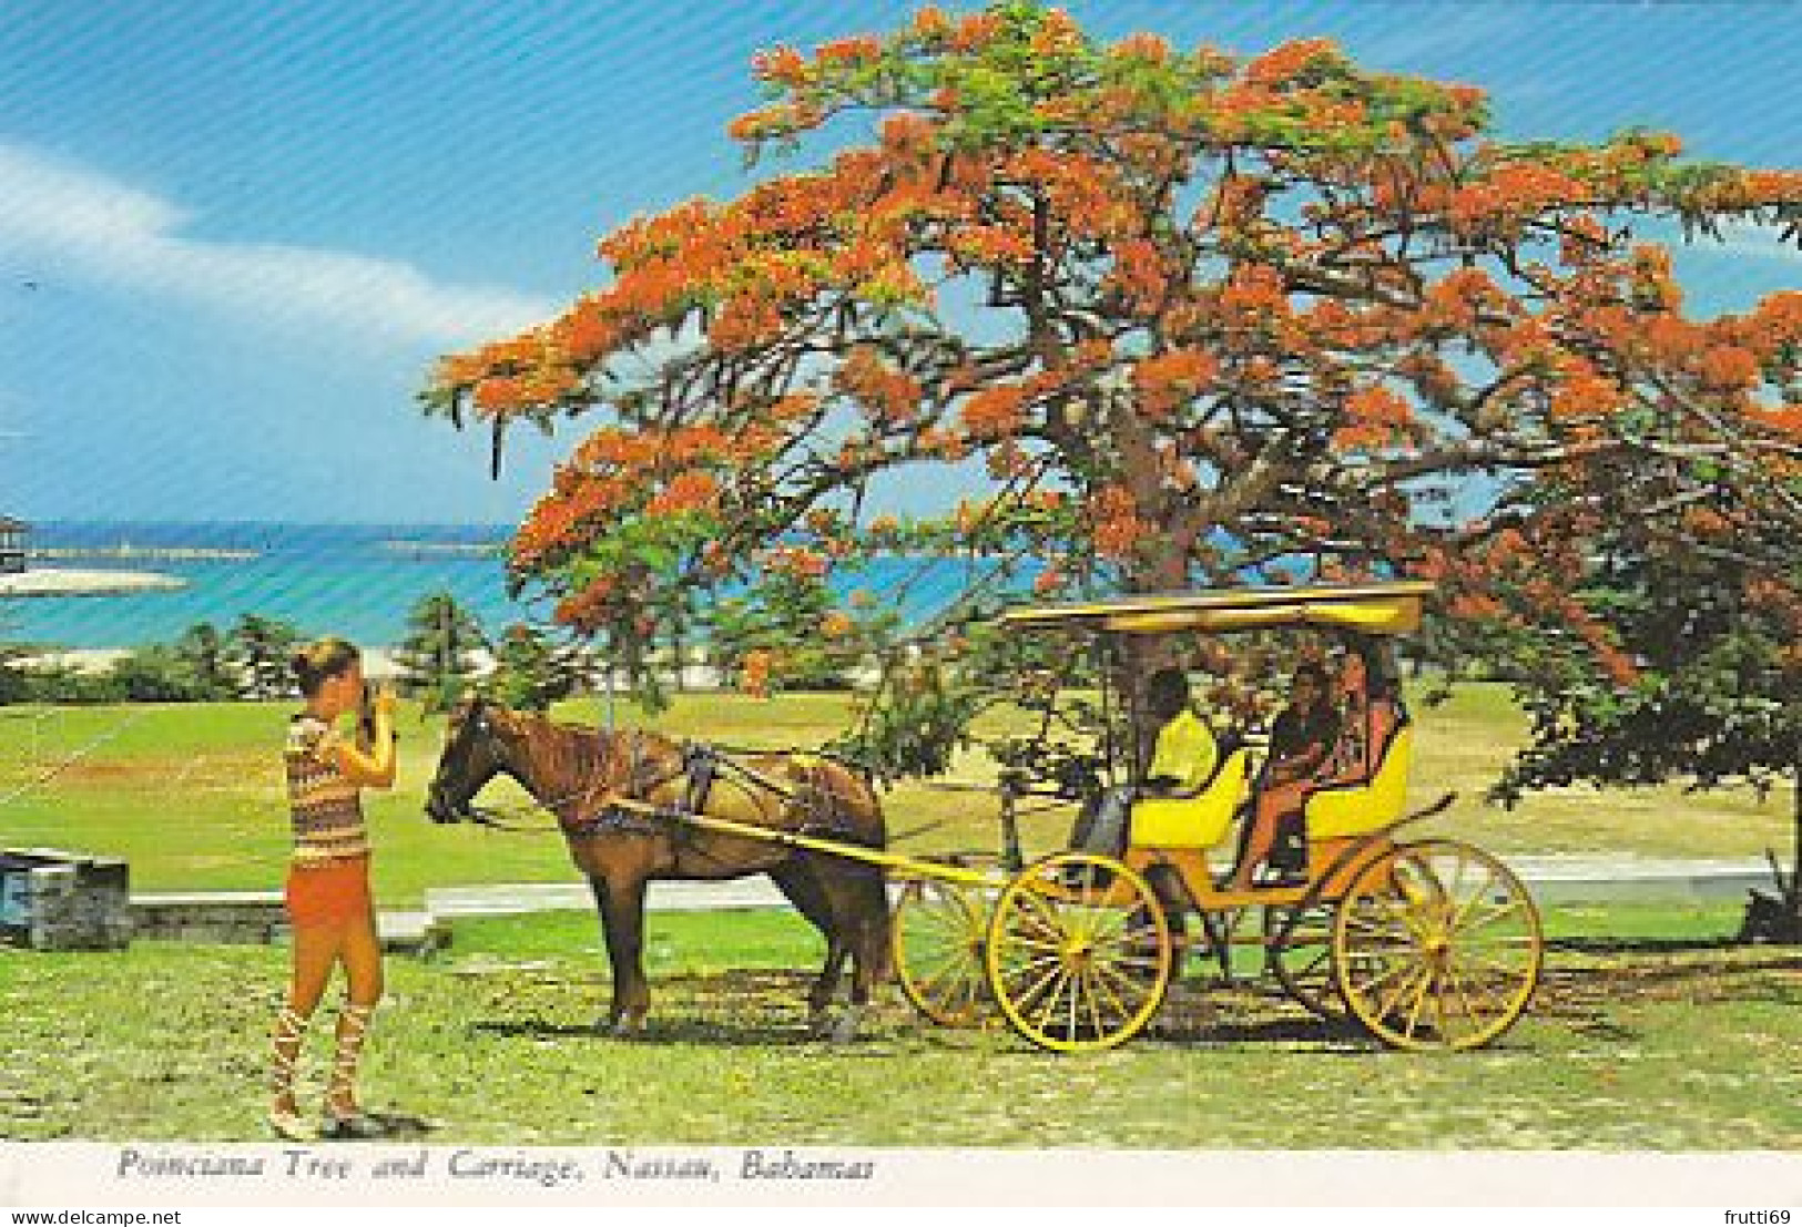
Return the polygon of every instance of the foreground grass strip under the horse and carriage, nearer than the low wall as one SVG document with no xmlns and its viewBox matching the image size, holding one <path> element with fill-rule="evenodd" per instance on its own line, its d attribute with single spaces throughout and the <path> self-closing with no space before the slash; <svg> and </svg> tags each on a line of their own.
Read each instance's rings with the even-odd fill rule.
<svg viewBox="0 0 1802 1227">
<path fill-rule="evenodd" d="M 897 1000 L 858 1043 L 811 1041 L 818 942 L 786 912 L 654 915 L 651 1036 L 611 1040 L 589 1027 L 607 995 L 591 915 L 469 921 L 440 959 L 389 960 L 366 1085 L 443 1144 L 1802 1148 L 1802 957 L 1633 941 L 1730 919 L 1690 912 L 1553 912 L 1535 1011 L 1481 1052 L 1382 1050 L 1191 971 L 1157 1032 L 1079 1058 Z M 0 1137 L 261 1137 L 283 975 L 278 948 L 0 953 Z"/>
</svg>

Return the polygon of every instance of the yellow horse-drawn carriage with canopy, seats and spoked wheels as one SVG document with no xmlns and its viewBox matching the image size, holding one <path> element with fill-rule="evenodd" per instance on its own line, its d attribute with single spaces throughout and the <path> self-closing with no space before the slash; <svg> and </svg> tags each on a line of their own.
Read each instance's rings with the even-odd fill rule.
<svg viewBox="0 0 1802 1227">
<path fill-rule="evenodd" d="M 1103 640 L 1314 627 L 1384 652 L 1420 625 L 1431 586 L 1236 589 L 1015 609 L 1007 631 Z M 1384 652 L 1386 654 L 1386 652 Z M 1231 966 L 1254 942 L 1269 971 L 1317 1014 L 1352 1018 L 1402 1049 L 1474 1049 L 1526 1011 L 1539 982 L 1539 913 L 1494 856 L 1404 827 L 1415 726 L 1398 695 L 1371 730 L 1366 769 L 1303 804 L 1305 872 L 1233 888 L 1234 831 L 1258 791 L 1260 750 L 1229 748 L 1195 787 L 1132 804 L 1124 852 L 1065 850 L 1013 874 L 935 867 L 896 908 L 901 987 L 946 1025 L 1000 1016 L 1054 1050 L 1119 1045 L 1157 1016 L 1191 953 Z M 1117 757 L 1117 755 L 1115 755 Z M 1007 845 L 1016 796 L 1004 795 Z M 1240 937 L 1249 913 L 1260 932 Z M 1188 915 L 1200 932 L 1184 932 Z"/>
</svg>

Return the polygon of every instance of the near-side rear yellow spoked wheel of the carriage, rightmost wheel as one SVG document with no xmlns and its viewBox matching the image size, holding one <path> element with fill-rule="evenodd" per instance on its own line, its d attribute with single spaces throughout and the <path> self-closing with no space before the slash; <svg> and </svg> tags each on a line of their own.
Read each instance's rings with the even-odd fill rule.
<svg viewBox="0 0 1802 1227">
<path fill-rule="evenodd" d="M 1494 856 L 1404 843 L 1366 865 L 1333 917 L 1333 975 L 1371 1034 L 1398 1049 L 1476 1049 L 1526 1011 L 1539 910 Z"/>
</svg>

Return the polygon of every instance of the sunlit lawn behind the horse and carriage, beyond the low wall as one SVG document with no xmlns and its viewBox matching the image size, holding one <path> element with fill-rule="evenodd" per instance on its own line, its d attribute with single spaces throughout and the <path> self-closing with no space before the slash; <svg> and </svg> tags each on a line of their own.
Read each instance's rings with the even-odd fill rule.
<svg viewBox="0 0 1802 1227">
<path fill-rule="evenodd" d="M 25 719 L 27 708 L 4 712 L 11 719 L 0 719 L 0 845 L 124 856 L 139 890 L 252 890 L 279 883 L 288 834 L 276 748 L 288 704 L 59 708 L 41 721 Z M 620 719 L 732 746 L 780 748 L 818 746 L 849 723 L 849 712 L 847 695 L 764 701 L 721 694 L 678 695 L 656 717 L 622 704 Z M 566 704 L 559 715 L 602 719 L 596 699 Z M 987 719 L 991 730 L 1007 724 L 1006 715 Z M 371 796 L 368 807 L 378 849 L 377 892 L 386 904 L 418 904 L 423 890 L 438 885 L 569 877 L 562 845 L 550 834 L 427 822 L 422 800 L 443 723 L 407 710 L 400 728 L 400 784 Z M 1436 820 L 1436 829 L 1505 856 L 1752 858 L 1791 843 L 1788 793 L 1759 802 L 1743 793 L 1685 795 L 1678 787 L 1566 789 L 1532 796 L 1514 811 L 1483 805 L 1483 789 L 1524 732 L 1501 686 L 1460 686 L 1451 703 L 1420 712 L 1420 728 L 1415 796 L 1458 791 L 1461 800 Z M 980 750 L 962 755 L 957 780 L 993 782 Z M 499 782 L 487 800 L 505 807 L 521 804 L 523 795 Z M 905 784 L 887 805 L 890 831 L 906 850 L 997 847 L 995 805 L 986 795 Z M 1069 822 L 1067 811 L 1031 818 L 1027 850 L 1060 847 Z"/>
</svg>

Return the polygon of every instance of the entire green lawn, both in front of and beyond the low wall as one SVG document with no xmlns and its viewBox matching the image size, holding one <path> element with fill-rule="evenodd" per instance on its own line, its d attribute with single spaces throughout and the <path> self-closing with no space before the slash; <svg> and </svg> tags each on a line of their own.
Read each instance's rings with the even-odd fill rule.
<svg viewBox="0 0 1802 1227">
<path fill-rule="evenodd" d="M 0 721 L 0 843 L 123 854 L 148 890 L 270 888 L 287 849 L 276 755 L 287 712 Z M 838 695 L 710 695 L 679 697 L 652 723 L 726 744 L 818 744 L 845 712 Z M 598 715 L 591 701 L 562 713 Z M 551 834 L 427 822 L 441 726 L 409 712 L 402 730 L 402 786 L 371 804 L 386 903 L 434 885 L 569 881 Z M 1465 800 L 1440 829 L 1503 854 L 1788 847 L 1786 796 L 1476 804 L 1521 733 L 1494 686 L 1461 688 L 1422 730 L 1416 796 L 1458 789 Z M 986 771 L 971 753 L 957 775 Z M 490 800 L 517 793 L 497 786 Z M 903 840 L 914 850 L 995 841 L 986 798 L 919 786 L 890 796 L 890 825 L 915 832 Z M 1051 849 L 1065 825 L 1067 814 L 1040 820 L 1029 847 Z M 441 1142 L 1797 1150 L 1802 957 L 1725 948 L 1737 912 L 1552 910 L 1534 1013 L 1496 1049 L 1461 1056 L 1380 1050 L 1263 982 L 1207 987 L 1197 969 L 1157 1031 L 1101 1056 L 1054 1058 L 1006 1029 L 939 1031 L 892 991 L 863 1041 L 820 1045 L 804 1034 L 802 1004 L 820 942 L 789 912 L 652 913 L 652 1032 L 625 1043 L 589 1029 L 607 1000 L 593 915 L 460 921 L 447 955 L 389 962 L 368 1081 L 378 1104 L 438 1122 Z M 285 960 L 279 948 L 150 942 L 0 951 L 0 1137 L 261 1137 L 263 1036 Z M 312 1056 L 317 1077 L 323 1034 Z"/>
</svg>

